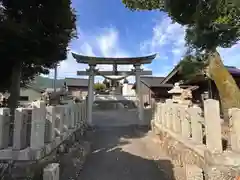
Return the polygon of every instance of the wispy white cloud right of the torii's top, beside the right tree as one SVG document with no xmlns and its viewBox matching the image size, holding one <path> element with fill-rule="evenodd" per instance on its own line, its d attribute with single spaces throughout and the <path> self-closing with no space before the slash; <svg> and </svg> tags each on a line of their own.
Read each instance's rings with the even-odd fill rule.
<svg viewBox="0 0 240 180">
<path fill-rule="evenodd" d="M 184 36 L 185 28 L 165 17 L 155 24 L 152 37 L 144 41 L 140 49 L 143 53 L 158 52 L 159 59 L 176 64 L 186 49 Z"/>
</svg>

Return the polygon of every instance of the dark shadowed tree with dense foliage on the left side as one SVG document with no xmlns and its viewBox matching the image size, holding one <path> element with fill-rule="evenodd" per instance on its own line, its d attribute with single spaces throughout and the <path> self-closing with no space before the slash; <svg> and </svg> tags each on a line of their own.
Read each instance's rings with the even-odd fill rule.
<svg viewBox="0 0 240 180">
<path fill-rule="evenodd" d="M 76 16 L 70 0 L 0 0 L 0 54 L 3 89 L 10 86 L 10 107 L 16 107 L 20 83 L 48 73 L 66 59 L 76 36 Z M 11 79 L 9 79 L 11 77 Z"/>
</svg>

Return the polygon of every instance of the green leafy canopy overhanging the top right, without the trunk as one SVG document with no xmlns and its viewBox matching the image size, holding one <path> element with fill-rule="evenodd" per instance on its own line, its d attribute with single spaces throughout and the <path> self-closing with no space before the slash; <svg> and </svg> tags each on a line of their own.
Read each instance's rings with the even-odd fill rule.
<svg viewBox="0 0 240 180">
<path fill-rule="evenodd" d="M 240 37 L 238 0 L 122 0 L 131 10 L 161 10 L 186 26 L 186 45 L 197 51 L 231 47 Z"/>
</svg>

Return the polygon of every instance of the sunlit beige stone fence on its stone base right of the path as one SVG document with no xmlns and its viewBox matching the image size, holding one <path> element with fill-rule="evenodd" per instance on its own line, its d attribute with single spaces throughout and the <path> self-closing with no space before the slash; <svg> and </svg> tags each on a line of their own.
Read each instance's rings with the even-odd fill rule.
<svg viewBox="0 0 240 180">
<path fill-rule="evenodd" d="M 198 106 L 157 103 L 151 122 L 161 148 L 177 166 L 185 168 L 184 179 L 230 180 L 240 175 L 240 109 L 229 110 L 227 144 L 219 102 Z"/>
</svg>

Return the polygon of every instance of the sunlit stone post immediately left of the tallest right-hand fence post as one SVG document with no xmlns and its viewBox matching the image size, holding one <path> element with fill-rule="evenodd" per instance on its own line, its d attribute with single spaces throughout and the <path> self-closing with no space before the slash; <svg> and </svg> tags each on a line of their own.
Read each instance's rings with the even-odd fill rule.
<svg viewBox="0 0 240 180">
<path fill-rule="evenodd" d="M 192 132 L 192 140 L 196 143 L 203 142 L 203 129 L 202 123 L 203 118 L 201 117 L 201 108 L 200 107 L 190 107 L 188 109 L 190 121 L 191 121 L 191 132 Z"/>
</svg>

